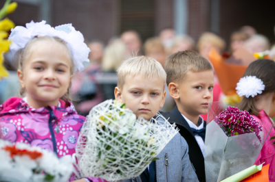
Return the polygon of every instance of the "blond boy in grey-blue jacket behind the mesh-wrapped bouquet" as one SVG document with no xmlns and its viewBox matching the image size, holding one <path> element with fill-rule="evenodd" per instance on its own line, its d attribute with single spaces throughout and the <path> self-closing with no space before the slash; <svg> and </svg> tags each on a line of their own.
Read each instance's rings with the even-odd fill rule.
<svg viewBox="0 0 275 182">
<path fill-rule="evenodd" d="M 118 68 L 115 99 L 125 103 L 137 117 L 150 120 L 164 105 L 166 73 L 151 57 L 132 57 Z M 177 133 L 148 168 L 130 181 L 198 181 L 188 156 L 188 145 Z"/>
</svg>

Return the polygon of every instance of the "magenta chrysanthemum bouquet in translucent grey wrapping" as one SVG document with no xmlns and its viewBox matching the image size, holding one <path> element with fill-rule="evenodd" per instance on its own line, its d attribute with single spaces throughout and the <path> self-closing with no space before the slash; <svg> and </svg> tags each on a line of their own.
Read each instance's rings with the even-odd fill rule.
<svg viewBox="0 0 275 182">
<path fill-rule="evenodd" d="M 267 131 L 246 111 L 213 102 L 205 140 L 206 181 L 221 181 L 253 166 L 272 127 Z"/>
</svg>

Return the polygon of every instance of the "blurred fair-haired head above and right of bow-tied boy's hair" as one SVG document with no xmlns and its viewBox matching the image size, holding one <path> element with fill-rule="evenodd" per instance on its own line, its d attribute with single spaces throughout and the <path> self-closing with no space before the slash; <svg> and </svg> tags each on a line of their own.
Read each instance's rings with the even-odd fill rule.
<svg viewBox="0 0 275 182">
<path fill-rule="evenodd" d="M 223 53 L 225 50 L 225 41 L 212 32 L 204 32 L 199 37 L 197 49 L 203 57 L 209 60 L 208 53 L 212 48 L 220 54 Z"/>
</svg>

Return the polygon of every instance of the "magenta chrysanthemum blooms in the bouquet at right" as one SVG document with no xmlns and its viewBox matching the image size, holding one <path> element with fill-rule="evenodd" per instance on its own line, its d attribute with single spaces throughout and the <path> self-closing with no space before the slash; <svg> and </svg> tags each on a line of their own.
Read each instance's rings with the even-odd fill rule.
<svg viewBox="0 0 275 182">
<path fill-rule="evenodd" d="M 229 106 L 219 116 L 216 116 L 215 122 L 225 127 L 228 136 L 255 133 L 261 142 L 259 133 L 263 131 L 263 127 L 246 111 Z"/>
</svg>

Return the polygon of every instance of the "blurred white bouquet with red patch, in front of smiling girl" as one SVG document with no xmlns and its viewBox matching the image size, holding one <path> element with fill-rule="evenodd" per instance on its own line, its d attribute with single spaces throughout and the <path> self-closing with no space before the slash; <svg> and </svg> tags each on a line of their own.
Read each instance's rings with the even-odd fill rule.
<svg viewBox="0 0 275 182">
<path fill-rule="evenodd" d="M 38 146 L 0 139 L 0 181 L 65 182 L 72 174 L 72 157 L 61 159 Z"/>
</svg>

